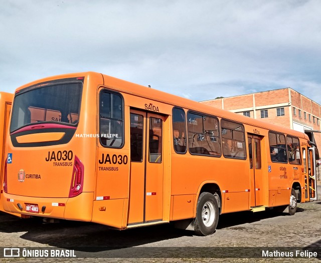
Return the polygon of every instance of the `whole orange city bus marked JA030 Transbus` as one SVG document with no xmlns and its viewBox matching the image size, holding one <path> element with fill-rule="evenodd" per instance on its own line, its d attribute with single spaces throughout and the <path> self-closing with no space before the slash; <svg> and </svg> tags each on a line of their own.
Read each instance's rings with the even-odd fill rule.
<svg viewBox="0 0 321 263">
<path fill-rule="evenodd" d="M 316 198 L 304 133 L 99 73 L 18 88 L 7 145 L 3 206 L 25 215 L 208 235 L 219 214 Z"/>
</svg>

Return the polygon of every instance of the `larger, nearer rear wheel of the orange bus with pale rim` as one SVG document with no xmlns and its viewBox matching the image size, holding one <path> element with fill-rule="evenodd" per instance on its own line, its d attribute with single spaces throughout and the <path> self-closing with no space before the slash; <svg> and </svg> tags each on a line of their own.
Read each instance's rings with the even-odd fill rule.
<svg viewBox="0 0 321 263">
<path fill-rule="evenodd" d="M 194 231 L 198 235 L 213 234 L 219 220 L 219 206 L 213 194 L 200 194 L 196 207 Z"/>
</svg>

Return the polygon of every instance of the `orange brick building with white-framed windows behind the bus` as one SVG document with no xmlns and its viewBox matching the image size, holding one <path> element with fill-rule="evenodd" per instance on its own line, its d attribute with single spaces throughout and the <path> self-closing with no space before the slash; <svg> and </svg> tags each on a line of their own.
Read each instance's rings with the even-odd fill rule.
<svg viewBox="0 0 321 263">
<path fill-rule="evenodd" d="M 291 88 L 218 98 L 201 103 L 296 131 L 320 130 L 321 105 Z M 321 153 L 321 134 L 315 133 L 314 138 Z"/>
</svg>

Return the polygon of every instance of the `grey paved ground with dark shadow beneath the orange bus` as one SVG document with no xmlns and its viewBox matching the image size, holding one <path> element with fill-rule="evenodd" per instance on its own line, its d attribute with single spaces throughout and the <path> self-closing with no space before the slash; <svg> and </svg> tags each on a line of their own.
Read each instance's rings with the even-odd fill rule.
<svg viewBox="0 0 321 263">
<path fill-rule="evenodd" d="M 321 200 L 321 187 L 318 188 Z M 315 251 L 321 247 L 321 201 L 300 204 L 294 216 L 273 211 L 239 212 L 220 217 L 210 236 L 159 225 L 125 231 L 75 221 L 43 224 L 39 219 L 0 215 L 2 247 L 76 247 L 80 258 L 2 258 L 0 262 L 321 262 L 317 258 L 237 258 L 261 253 L 261 247 L 295 253 L 296 248 Z M 108 247 L 108 248 L 106 248 Z M 121 248 L 120 248 L 121 247 Z M 126 248 L 124 248 L 126 247 Z M 223 247 L 220 250 L 218 247 Z M 230 248 L 227 249 L 227 248 Z M 248 247 L 258 247 L 248 248 Z M 282 249 L 284 247 L 284 249 Z M 287 250 L 286 247 L 289 247 Z M 298 249 L 297 248 L 297 249 Z M 2 248 L 1 248 L 2 249 Z M 264 251 L 273 251 L 266 248 Z M 207 254 L 233 254 L 233 258 L 206 258 Z M 117 258 L 99 258 L 106 255 Z M 146 258 L 136 258 L 148 255 Z M 131 256 L 133 258 L 124 258 Z M 187 256 L 187 257 L 186 257 Z M 166 257 L 166 258 L 162 258 Z M 192 258 L 193 257 L 193 258 Z"/>
</svg>

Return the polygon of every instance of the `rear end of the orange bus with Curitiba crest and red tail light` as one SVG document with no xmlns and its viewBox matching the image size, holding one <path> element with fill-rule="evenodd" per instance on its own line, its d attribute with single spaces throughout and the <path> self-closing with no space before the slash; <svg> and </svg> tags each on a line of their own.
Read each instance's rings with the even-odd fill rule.
<svg viewBox="0 0 321 263">
<path fill-rule="evenodd" d="M 90 126 L 90 111 L 81 111 L 90 100 L 84 95 L 88 79 L 62 76 L 16 91 L 7 140 L 6 211 L 91 220 L 94 179 L 85 170 L 94 165 L 88 156 L 95 158 L 95 143 L 74 136 Z"/>
</svg>

